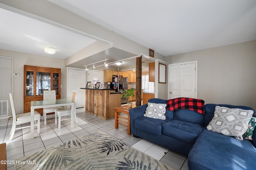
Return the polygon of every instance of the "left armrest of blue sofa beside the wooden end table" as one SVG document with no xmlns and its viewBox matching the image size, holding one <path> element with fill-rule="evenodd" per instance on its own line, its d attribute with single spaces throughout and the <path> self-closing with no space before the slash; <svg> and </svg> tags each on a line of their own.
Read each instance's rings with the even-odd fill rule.
<svg viewBox="0 0 256 170">
<path fill-rule="evenodd" d="M 135 128 L 135 120 L 140 117 L 143 117 L 147 107 L 148 107 L 148 104 L 145 104 L 145 105 L 141 105 L 138 107 L 134 107 L 129 110 L 130 129 L 131 129 L 132 134 L 137 135 L 136 128 Z"/>
</svg>

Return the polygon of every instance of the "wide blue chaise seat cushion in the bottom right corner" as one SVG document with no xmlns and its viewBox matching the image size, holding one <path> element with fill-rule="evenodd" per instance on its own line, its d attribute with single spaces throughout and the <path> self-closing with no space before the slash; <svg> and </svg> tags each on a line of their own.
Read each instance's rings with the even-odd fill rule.
<svg viewBox="0 0 256 170">
<path fill-rule="evenodd" d="M 249 140 L 212 132 L 204 128 L 188 154 L 192 170 L 248 170 L 256 166 L 256 148 Z"/>
</svg>

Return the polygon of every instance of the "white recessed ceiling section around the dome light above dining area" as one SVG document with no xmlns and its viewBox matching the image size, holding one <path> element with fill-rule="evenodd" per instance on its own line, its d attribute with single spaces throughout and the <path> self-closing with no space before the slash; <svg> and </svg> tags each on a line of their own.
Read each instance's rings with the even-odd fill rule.
<svg viewBox="0 0 256 170">
<path fill-rule="evenodd" d="M 0 48 L 66 59 L 96 40 L 0 8 Z M 44 52 L 54 47 L 54 55 Z"/>
</svg>

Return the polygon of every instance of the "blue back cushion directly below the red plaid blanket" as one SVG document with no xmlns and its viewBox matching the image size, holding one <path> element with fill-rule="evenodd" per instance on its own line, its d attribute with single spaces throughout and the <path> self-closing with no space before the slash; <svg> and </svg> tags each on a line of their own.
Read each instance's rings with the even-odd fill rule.
<svg viewBox="0 0 256 170">
<path fill-rule="evenodd" d="M 199 125 L 204 124 L 204 115 L 188 109 L 180 109 L 180 110 L 174 111 L 174 119 L 195 123 Z"/>
</svg>

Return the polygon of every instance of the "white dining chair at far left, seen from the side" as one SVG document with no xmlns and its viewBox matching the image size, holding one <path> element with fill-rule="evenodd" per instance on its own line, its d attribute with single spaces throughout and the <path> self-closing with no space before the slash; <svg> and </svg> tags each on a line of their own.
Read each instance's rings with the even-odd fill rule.
<svg viewBox="0 0 256 170">
<path fill-rule="evenodd" d="M 12 93 L 9 93 L 9 96 L 10 96 L 10 103 L 11 103 L 11 109 L 12 109 L 12 128 L 9 134 L 11 135 L 9 140 L 12 140 L 15 130 L 30 127 L 30 126 L 26 126 L 26 127 L 16 128 L 17 125 L 21 125 L 24 123 L 31 123 L 31 113 L 28 112 L 28 113 L 22 113 L 22 114 L 16 115 L 13 100 L 12 100 Z M 37 126 L 38 134 L 40 133 L 40 116 L 41 115 L 37 111 L 34 112 L 34 120 L 37 121 L 37 125 L 35 124 L 34 126 Z M 34 132 L 31 132 L 31 133 L 34 133 Z"/>
</svg>

